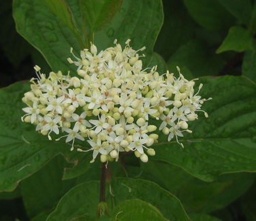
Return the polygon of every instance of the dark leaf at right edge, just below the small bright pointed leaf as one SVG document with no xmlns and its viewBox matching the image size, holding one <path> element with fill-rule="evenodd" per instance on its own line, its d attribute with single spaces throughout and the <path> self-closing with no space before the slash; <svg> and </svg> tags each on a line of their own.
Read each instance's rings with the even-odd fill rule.
<svg viewBox="0 0 256 221">
<path fill-rule="evenodd" d="M 242 61 L 242 75 L 256 81 L 256 52 L 246 51 Z"/>
</svg>

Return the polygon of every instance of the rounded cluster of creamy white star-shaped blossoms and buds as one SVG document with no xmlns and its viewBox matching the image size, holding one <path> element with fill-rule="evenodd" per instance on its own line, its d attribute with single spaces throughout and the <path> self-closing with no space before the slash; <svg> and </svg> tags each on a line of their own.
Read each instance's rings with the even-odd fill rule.
<svg viewBox="0 0 256 221">
<path fill-rule="evenodd" d="M 93 150 L 93 159 L 100 154 L 101 162 L 118 160 L 120 152 L 133 151 L 142 162 L 155 155 L 153 146 L 159 138 L 157 129 L 167 140 L 182 137 L 189 132 L 189 121 L 197 119 L 197 112 L 206 99 L 194 81 L 187 81 L 180 73 L 159 75 L 157 66 L 142 68 L 138 52 L 125 42 L 125 48 L 114 41 L 97 53 L 97 47 L 84 49 L 80 57 L 68 58 L 78 66 L 78 77 L 51 72 L 49 77 L 35 66 L 37 79 L 31 79 L 31 91 L 22 101 L 27 104 L 22 121 L 36 125 L 36 131 L 52 140 L 52 133 L 65 135 L 74 150 L 76 140 L 85 140 L 90 148 L 77 148 L 80 152 Z M 204 112 L 204 111 L 203 111 Z M 204 115 L 208 117 L 207 113 Z M 153 120 L 155 119 L 155 121 Z M 150 121 L 154 122 L 150 124 Z M 155 125 L 159 121 L 159 128 Z"/>
</svg>

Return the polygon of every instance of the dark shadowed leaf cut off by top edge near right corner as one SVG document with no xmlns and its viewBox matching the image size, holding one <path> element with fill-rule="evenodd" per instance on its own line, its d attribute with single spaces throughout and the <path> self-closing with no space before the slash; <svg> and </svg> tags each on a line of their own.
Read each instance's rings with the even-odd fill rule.
<svg viewBox="0 0 256 221">
<path fill-rule="evenodd" d="M 219 3 L 242 24 L 249 24 L 252 11 L 250 0 L 219 0 Z"/>
</svg>

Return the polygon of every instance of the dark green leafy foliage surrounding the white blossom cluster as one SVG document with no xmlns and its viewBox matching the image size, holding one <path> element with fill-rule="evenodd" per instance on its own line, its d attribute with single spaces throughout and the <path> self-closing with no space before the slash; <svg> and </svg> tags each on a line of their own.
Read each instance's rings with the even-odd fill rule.
<svg viewBox="0 0 256 221">
<path fill-rule="evenodd" d="M 204 83 L 203 98 L 213 98 L 203 108 L 209 117 L 199 116 L 193 134 L 180 139 L 185 148 L 161 133 L 148 163 L 131 155 L 109 162 L 106 203 L 99 204 L 99 160 L 89 163 L 91 153 L 70 152 L 65 142 L 49 141 L 20 121 L 28 82 L 0 89 L 0 220 L 256 219 L 255 1 L 14 0 L 0 6 L 6 84 L 29 79 L 33 64 L 44 73 L 76 75 L 67 62 L 70 47 L 79 54 L 91 42 L 100 50 L 131 39 L 135 49 L 146 46 L 144 68 L 157 65 L 163 74 L 179 66 L 187 79 Z"/>
</svg>

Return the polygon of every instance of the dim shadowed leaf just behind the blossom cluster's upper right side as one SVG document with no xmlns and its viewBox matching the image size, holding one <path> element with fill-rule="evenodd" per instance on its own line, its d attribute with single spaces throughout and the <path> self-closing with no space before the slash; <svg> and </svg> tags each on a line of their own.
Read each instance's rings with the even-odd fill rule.
<svg viewBox="0 0 256 221">
<path fill-rule="evenodd" d="M 213 50 L 203 41 L 191 40 L 182 45 L 167 62 L 170 72 L 180 67 L 182 74 L 188 79 L 206 75 L 217 75 L 224 66 L 221 56 L 217 56 Z"/>
</svg>

